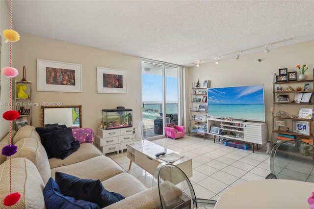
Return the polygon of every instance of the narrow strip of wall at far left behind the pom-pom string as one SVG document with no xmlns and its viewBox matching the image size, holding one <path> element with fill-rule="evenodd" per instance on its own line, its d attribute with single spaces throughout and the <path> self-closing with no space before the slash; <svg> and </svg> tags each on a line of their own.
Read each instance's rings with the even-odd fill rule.
<svg viewBox="0 0 314 209">
<path fill-rule="evenodd" d="M 7 7 L 5 0 L 0 0 L 0 31 L 2 36 L 2 31 L 9 29 L 9 9 Z M 2 37 L 2 49 L 1 49 L 1 69 L 3 67 L 10 66 L 9 64 L 9 43 L 4 43 L 4 38 Z M 14 49 L 14 44 L 12 44 Z M 14 67 L 14 66 L 13 66 Z M 9 78 L 1 75 L 1 92 L 0 92 L 0 103 L 5 104 L 9 102 Z M 9 122 L 2 118 L 2 114 L 9 110 L 9 106 L 0 105 L 0 139 L 9 132 Z"/>
</svg>

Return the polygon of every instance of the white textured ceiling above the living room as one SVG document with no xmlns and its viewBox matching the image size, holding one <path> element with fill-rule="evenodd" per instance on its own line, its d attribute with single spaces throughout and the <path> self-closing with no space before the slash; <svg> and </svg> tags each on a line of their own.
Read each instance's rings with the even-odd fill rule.
<svg viewBox="0 0 314 209">
<path fill-rule="evenodd" d="M 288 38 L 270 49 L 314 40 L 314 1 L 13 0 L 13 24 L 18 32 L 191 66 Z"/>
</svg>

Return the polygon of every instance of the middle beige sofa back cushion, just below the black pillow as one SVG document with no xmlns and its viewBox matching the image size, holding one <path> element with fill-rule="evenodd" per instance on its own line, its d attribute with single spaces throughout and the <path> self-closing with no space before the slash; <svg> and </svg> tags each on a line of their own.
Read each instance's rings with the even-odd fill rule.
<svg viewBox="0 0 314 209">
<path fill-rule="evenodd" d="M 45 148 L 34 138 L 24 138 L 15 144 L 18 147 L 17 153 L 12 156 L 26 157 L 37 167 L 44 183 L 51 177 L 50 165 Z"/>
</svg>

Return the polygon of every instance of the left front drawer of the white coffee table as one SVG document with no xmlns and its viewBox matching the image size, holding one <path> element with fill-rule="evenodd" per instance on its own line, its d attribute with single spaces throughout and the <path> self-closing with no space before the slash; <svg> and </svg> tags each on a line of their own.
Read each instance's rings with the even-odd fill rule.
<svg viewBox="0 0 314 209">
<path fill-rule="evenodd" d="M 143 153 L 135 150 L 135 163 L 146 170 L 148 173 L 154 175 L 154 172 L 157 168 L 157 166 L 160 164 L 159 161 L 152 157 L 147 157 Z"/>
</svg>

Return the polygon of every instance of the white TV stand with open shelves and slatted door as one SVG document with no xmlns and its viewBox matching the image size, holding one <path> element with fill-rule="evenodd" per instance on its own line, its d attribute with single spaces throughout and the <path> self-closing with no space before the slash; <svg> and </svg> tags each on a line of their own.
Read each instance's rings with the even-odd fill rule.
<svg viewBox="0 0 314 209">
<path fill-rule="evenodd" d="M 254 153 L 254 144 L 257 149 L 259 144 L 267 142 L 267 126 L 264 122 L 253 122 L 247 120 L 232 120 L 208 118 L 207 119 L 208 134 L 214 138 L 220 137 L 227 140 L 238 140 L 252 143 Z M 210 132 L 211 127 L 219 127 L 219 134 Z M 223 132 L 223 134 L 221 134 Z"/>
</svg>

